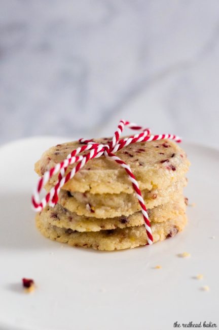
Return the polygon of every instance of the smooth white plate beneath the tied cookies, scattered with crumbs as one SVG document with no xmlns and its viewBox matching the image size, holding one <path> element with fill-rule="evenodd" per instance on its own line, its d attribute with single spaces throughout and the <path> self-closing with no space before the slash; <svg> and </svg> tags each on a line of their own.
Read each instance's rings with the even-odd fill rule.
<svg viewBox="0 0 219 330">
<path fill-rule="evenodd" d="M 219 326 L 219 152 L 182 145 L 192 162 L 186 195 L 196 204 L 184 232 L 153 246 L 97 252 L 52 242 L 34 227 L 33 164 L 60 142 L 32 138 L 0 148 L 1 330 L 161 330 L 175 321 Z M 184 251 L 191 257 L 177 256 Z M 34 293 L 23 292 L 22 277 L 34 279 Z"/>
</svg>

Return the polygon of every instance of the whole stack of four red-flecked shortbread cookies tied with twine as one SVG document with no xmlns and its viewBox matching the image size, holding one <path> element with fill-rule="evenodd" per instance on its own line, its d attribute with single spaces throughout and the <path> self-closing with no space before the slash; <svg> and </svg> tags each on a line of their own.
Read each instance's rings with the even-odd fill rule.
<svg viewBox="0 0 219 330">
<path fill-rule="evenodd" d="M 104 144 L 108 139 L 94 142 Z M 50 148 L 36 162 L 36 173 L 43 176 L 79 146 L 80 142 L 70 142 Z M 160 140 L 131 144 L 116 154 L 130 166 L 138 181 L 154 242 L 175 236 L 187 222 L 183 188 L 190 163 L 186 153 L 174 142 Z M 47 190 L 57 178 L 50 179 Z M 62 187 L 58 204 L 54 208 L 47 206 L 36 215 L 36 226 L 52 240 L 98 250 L 134 248 L 148 242 L 127 173 L 104 156 L 89 160 Z"/>
</svg>

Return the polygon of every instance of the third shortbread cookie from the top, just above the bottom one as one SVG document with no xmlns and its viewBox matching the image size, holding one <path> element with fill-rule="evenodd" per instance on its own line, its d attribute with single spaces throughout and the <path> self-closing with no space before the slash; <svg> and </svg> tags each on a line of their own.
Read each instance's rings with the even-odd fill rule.
<svg viewBox="0 0 219 330">
<path fill-rule="evenodd" d="M 164 222 L 184 215 L 186 204 L 184 196 L 178 197 L 167 204 L 157 206 L 148 210 L 151 222 Z M 91 217 L 79 216 L 57 204 L 54 208 L 47 206 L 40 214 L 45 224 L 57 227 L 70 228 L 78 232 L 98 232 L 102 229 L 116 229 L 140 226 L 144 224 L 141 212 L 136 212 L 128 217 L 115 217 L 106 219 L 96 219 Z"/>
</svg>

